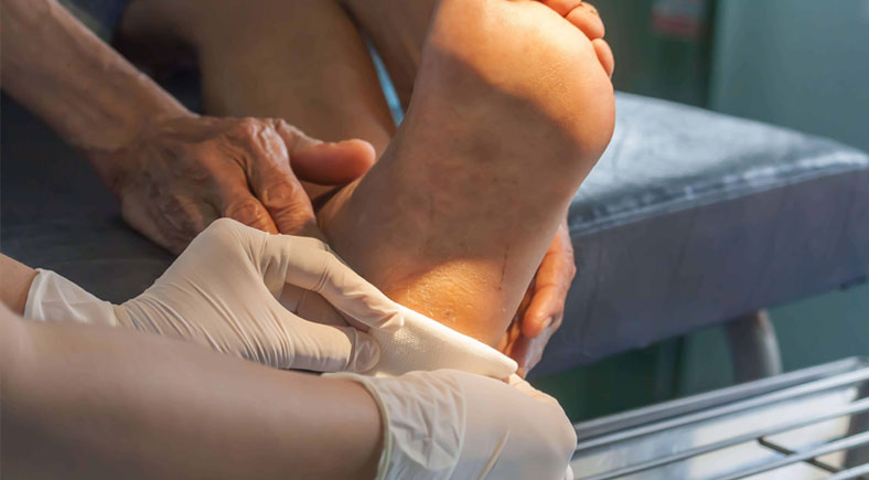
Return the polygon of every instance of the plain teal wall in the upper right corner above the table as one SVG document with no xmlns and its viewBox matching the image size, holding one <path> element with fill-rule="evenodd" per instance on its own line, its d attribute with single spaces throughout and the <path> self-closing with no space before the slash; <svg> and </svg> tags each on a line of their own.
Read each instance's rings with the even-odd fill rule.
<svg viewBox="0 0 869 480">
<path fill-rule="evenodd" d="M 869 150 L 869 1 L 725 0 L 710 107 Z"/>
</svg>

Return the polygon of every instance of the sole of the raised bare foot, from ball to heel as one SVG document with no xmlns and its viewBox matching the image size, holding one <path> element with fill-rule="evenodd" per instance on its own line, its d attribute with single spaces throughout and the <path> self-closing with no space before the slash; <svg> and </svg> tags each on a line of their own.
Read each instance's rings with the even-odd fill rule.
<svg viewBox="0 0 869 480">
<path fill-rule="evenodd" d="M 442 0 L 401 128 L 319 216 L 394 300 L 490 344 L 614 122 L 601 49 L 548 3 Z"/>
</svg>

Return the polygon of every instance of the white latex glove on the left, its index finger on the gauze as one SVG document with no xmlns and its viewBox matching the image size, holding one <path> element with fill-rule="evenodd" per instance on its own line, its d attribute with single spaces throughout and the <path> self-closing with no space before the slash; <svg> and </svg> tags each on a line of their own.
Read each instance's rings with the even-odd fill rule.
<svg viewBox="0 0 869 480">
<path fill-rule="evenodd" d="M 347 324 L 311 322 L 281 306 L 285 287 L 319 294 L 363 328 L 395 331 L 403 324 L 393 301 L 324 243 L 270 235 L 228 218 L 213 222 L 148 290 L 119 306 L 41 270 L 24 316 L 192 340 L 279 369 L 363 372 L 377 362 L 379 348 L 368 334 Z M 319 316 L 330 314 L 334 311 Z"/>
</svg>

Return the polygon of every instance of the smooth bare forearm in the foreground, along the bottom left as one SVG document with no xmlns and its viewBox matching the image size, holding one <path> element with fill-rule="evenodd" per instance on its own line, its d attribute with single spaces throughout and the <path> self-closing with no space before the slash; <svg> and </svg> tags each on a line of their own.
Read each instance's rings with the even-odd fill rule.
<svg viewBox="0 0 869 480">
<path fill-rule="evenodd" d="M 0 317 L 10 477 L 374 476 L 379 413 L 355 383 L 141 333 Z"/>
</svg>

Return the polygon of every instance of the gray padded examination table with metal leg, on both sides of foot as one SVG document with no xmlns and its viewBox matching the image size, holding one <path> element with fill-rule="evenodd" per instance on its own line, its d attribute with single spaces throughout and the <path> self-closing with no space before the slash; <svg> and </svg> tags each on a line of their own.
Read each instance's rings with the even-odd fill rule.
<svg viewBox="0 0 869 480">
<path fill-rule="evenodd" d="M 570 210 L 579 273 L 565 322 L 533 373 L 722 322 L 739 377 L 776 373 L 758 312 L 865 279 L 869 157 L 633 95 L 618 108 L 612 145 Z M 125 225 L 89 167 L 6 96 L 2 140 L 4 254 L 114 301 L 170 264 Z"/>
</svg>

